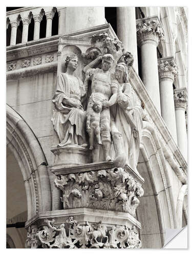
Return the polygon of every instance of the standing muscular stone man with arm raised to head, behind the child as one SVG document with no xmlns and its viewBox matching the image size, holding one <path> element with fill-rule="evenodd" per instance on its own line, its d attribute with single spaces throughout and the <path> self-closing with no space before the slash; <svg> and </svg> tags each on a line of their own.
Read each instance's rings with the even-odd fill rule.
<svg viewBox="0 0 192 256">
<path fill-rule="evenodd" d="M 93 69 L 99 61 L 102 60 L 101 69 Z M 99 56 L 87 65 L 83 71 L 86 73 L 86 80 L 91 80 L 92 94 L 89 98 L 87 115 L 92 110 L 92 105 L 95 101 L 103 103 L 103 109 L 100 113 L 100 129 L 101 129 L 101 142 L 103 145 L 104 160 L 111 160 L 111 134 L 110 134 L 110 109 L 109 106 L 113 105 L 116 101 L 116 91 L 111 87 L 111 67 L 114 62 L 114 57 L 111 54 Z M 98 161 L 98 150 L 94 154 L 94 161 Z"/>
</svg>

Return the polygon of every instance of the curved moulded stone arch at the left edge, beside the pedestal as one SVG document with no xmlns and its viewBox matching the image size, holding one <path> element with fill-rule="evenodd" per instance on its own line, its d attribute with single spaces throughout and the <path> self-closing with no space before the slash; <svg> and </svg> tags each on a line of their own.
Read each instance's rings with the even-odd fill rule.
<svg viewBox="0 0 192 256">
<path fill-rule="evenodd" d="M 51 210 L 51 189 L 47 160 L 34 133 L 7 104 L 7 147 L 13 153 L 22 172 L 28 220 L 40 211 Z"/>
</svg>

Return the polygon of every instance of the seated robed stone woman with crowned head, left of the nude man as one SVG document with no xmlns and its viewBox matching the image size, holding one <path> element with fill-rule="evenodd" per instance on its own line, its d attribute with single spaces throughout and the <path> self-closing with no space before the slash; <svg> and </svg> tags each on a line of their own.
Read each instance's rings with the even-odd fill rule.
<svg viewBox="0 0 192 256">
<path fill-rule="evenodd" d="M 53 97 L 56 111 L 53 110 L 52 122 L 59 137 L 58 146 L 77 144 L 87 146 L 85 115 L 82 107 L 86 95 L 83 83 L 74 75 L 78 57 L 71 54 L 66 58 L 67 72 L 57 77 L 56 92 Z"/>
</svg>

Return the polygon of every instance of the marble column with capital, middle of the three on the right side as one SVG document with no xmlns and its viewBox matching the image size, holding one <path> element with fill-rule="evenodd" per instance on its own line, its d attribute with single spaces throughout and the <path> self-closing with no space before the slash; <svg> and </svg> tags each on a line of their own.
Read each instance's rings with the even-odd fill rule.
<svg viewBox="0 0 192 256">
<path fill-rule="evenodd" d="M 161 115 L 177 143 L 173 82 L 178 75 L 174 57 L 158 59 Z"/>
</svg>

